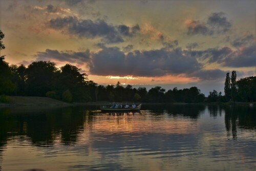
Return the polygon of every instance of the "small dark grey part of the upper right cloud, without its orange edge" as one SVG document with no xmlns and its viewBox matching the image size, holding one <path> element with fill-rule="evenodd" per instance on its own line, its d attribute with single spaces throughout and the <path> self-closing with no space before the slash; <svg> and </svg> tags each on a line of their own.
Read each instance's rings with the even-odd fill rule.
<svg viewBox="0 0 256 171">
<path fill-rule="evenodd" d="M 227 20 L 223 12 L 212 13 L 208 17 L 207 24 L 217 33 L 225 33 L 229 31 L 231 27 L 231 23 Z"/>
</svg>

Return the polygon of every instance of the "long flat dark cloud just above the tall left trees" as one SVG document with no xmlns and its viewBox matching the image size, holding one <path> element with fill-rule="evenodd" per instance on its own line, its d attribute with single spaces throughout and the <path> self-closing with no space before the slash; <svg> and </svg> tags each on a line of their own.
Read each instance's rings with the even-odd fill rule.
<svg viewBox="0 0 256 171">
<path fill-rule="evenodd" d="M 35 55 L 36 60 L 58 60 L 70 63 L 84 63 L 90 60 L 90 51 L 86 50 L 84 52 L 59 52 L 57 50 L 47 49 L 45 52 L 37 52 Z"/>
</svg>

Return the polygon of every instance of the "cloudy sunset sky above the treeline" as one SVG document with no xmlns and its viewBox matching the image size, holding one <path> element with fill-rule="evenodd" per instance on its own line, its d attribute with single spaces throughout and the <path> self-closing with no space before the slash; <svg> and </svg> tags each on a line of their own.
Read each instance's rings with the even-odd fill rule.
<svg viewBox="0 0 256 171">
<path fill-rule="evenodd" d="M 9 64 L 70 63 L 98 84 L 224 93 L 255 76 L 256 1 L 0 1 Z"/>
</svg>

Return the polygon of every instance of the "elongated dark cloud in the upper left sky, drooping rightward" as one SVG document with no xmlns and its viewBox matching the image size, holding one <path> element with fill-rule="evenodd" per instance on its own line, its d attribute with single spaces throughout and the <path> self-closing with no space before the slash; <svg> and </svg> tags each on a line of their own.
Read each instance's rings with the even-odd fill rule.
<svg viewBox="0 0 256 171">
<path fill-rule="evenodd" d="M 93 21 L 91 19 L 78 19 L 73 16 L 51 19 L 49 27 L 66 30 L 69 34 L 75 34 L 79 37 L 101 37 L 102 42 L 105 43 L 123 42 L 122 36 L 133 36 L 140 30 L 138 25 L 134 27 L 125 25 L 115 27 L 106 23 L 103 19 Z"/>
</svg>

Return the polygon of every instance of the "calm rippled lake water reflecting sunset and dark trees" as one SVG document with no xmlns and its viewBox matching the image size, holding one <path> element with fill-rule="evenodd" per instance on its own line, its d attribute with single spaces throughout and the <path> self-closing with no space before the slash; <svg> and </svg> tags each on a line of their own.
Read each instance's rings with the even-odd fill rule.
<svg viewBox="0 0 256 171">
<path fill-rule="evenodd" d="M 255 170 L 256 110 L 0 108 L 0 170 Z"/>
</svg>

